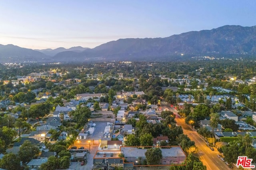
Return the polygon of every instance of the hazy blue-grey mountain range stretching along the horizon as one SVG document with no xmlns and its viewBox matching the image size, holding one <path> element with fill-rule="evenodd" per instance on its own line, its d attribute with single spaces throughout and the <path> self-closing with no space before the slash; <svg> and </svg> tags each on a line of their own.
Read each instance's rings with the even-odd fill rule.
<svg viewBox="0 0 256 170">
<path fill-rule="evenodd" d="M 184 56 L 256 55 L 256 26 L 225 25 L 165 38 L 127 38 L 93 49 L 72 47 L 32 50 L 0 45 L 0 63 L 83 61 L 172 61 Z M 183 56 L 183 57 L 182 57 Z"/>
</svg>

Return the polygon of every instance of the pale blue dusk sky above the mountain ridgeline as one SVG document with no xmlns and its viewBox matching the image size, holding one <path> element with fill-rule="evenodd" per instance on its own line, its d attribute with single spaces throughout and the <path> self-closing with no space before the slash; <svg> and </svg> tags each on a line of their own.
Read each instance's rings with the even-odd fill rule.
<svg viewBox="0 0 256 170">
<path fill-rule="evenodd" d="M 255 11 L 255 0 L 0 0 L 0 44 L 94 48 L 123 38 L 255 26 Z"/>
</svg>

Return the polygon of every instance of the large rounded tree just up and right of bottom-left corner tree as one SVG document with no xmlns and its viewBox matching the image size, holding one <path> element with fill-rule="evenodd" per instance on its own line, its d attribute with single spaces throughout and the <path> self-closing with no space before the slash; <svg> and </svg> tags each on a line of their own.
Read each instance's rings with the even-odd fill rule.
<svg viewBox="0 0 256 170">
<path fill-rule="evenodd" d="M 33 145 L 30 141 L 25 141 L 18 152 L 20 160 L 22 162 L 29 162 L 34 157 L 38 156 L 40 150 L 38 146 Z"/>
</svg>

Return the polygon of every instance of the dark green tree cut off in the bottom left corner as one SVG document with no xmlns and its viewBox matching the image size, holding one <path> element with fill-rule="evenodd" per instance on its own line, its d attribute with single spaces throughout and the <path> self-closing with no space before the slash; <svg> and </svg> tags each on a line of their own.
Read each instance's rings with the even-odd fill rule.
<svg viewBox="0 0 256 170">
<path fill-rule="evenodd" d="M 4 155 L 0 160 L 0 168 L 7 170 L 20 170 L 20 159 L 13 153 Z"/>
</svg>

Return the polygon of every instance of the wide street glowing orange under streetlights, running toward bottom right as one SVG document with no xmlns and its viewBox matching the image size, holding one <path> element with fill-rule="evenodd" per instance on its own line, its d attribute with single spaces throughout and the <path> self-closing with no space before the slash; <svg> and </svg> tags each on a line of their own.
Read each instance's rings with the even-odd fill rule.
<svg viewBox="0 0 256 170">
<path fill-rule="evenodd" d="M 220 158 L 217 157 L 217 154 L 220 154 L 217 151 L 217 149 L 214 148 L 215 151 L 210 150 L 210 148 L 207 147 L 204 139 L 202 139 L 202 137 L 200 137 L 200 135 L 198 135 L 196 131 L 193 131 L 193 129 L 185 123 L 184 118 L 181 118 L 177 114 L 178 111 L 176 111 L 175 109 L 172 109 L 165 102 L 161 102 L 161 106 L 168 107 L 170 111 L 173 111 L 176 114 L 177 125 L 181 126 L 184 134 L 188 135 L 188 137 L 195 142 L 196 147 L 198 147 L 197 156 L 198 158 L 200 158 L 203 164 L 207 166 L 207 170 L 229 169 L 228 166 L 222 160 L 220 160 Z M 234 167 L 234 169 L 236 169 L 236 167 Z"/>
</svg>

